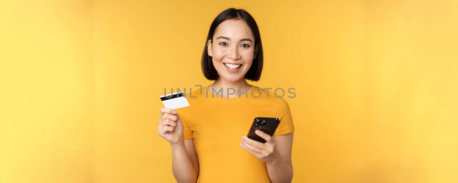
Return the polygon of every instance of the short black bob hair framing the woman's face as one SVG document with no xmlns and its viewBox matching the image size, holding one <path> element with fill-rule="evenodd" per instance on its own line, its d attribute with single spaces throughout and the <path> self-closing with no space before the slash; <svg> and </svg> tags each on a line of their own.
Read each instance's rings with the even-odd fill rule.
<svg viewBox="0 0 458 183">
<path fill-rule="evenodd" d="M 210 26 L 210 30 L 208 31 L 207 40 L 205 40 L 205 48 L 203 49 L 202 53 L 202 72 L 203 75 L 208 80 L 216 80 L 218 79 L 219 75 L 216 71 L 215 67 L 213 66 L 212 57 L 208 55 L 207 51 L 207 43 L 208 40 L 211 40 L 213 45 L 213 34 L 215 33 L 216 27 L 222 22 L 234 19 L 234 20 L 244 20 L 248 27 L 250 27 L 251 32 L 255 36 L 255 50 L 257 48 L 256 58 L 253 59 L 253 63 L 251 64 L 250 69 L 245 74 L 245 79 L 251 81 L 259 81 L 261 78 L 262 72 L 262 64 L 263 64 L 263 56 L 262 56 L 262 42 L 261 42 L 261 34 L 259 33 L 259 28 L 257 27 L 255 19 L 243 9 L 235 9 L 235 8 L 228 8 L 223 12 L 219 13 L 218 16 L 213 20 L 212 25 Z"/>
</svg>

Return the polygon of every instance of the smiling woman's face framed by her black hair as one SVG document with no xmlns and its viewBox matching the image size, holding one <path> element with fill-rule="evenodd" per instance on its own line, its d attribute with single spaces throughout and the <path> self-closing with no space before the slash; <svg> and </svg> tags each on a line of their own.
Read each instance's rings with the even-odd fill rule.
<svg viewBox="0 0 458 183">
<path fill-rule="evenodd" d="M 212 42 L 208 40 L 207 51 L 220 79 L 233 82 L 245 79 L 257 52 L 254 35 L 245 21 L 231 19 L 222 22 L 216 28 Z"/>
</svg>

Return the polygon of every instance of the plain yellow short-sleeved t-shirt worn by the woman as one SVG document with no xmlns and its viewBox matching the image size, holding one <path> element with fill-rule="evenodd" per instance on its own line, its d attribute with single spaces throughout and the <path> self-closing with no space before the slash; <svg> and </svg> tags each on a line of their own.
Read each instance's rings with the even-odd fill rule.
<svg viewBox="0 0 458 183">
<path fill-rule="evenodd" d="M 189 92 L 185 96 L 190 106 L 176 111 L 184 126 L 185 139 L 194 139 L 199 183 L 269 183 L 266 162 L 242 149 L 240 140 L 248 134 L 256 117 L 280 118 L 274 136 L 293 132 L 293 120 L 284 98 L 275 97 L 270 90 L 267 97 L 267 90 L 253 85 L 240 98 L 221 98 L 216 94 L 212 98 L 207 86 L 202 87 L 202 94 L 198 88 L 191 92 L 193 98 Z"/>
</svg>

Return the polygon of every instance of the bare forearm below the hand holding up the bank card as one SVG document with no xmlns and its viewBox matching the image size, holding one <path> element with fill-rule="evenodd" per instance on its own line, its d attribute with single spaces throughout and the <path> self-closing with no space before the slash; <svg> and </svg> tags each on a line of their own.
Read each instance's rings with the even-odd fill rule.
<svg viewBox="0 0 458 183">
<path fill-rule="evenodd" d="M 199 161 L 197 160 L 194 140 L 181 140 L 172 147 L 172 172 L 178 183 L 196 183 L 199 177 Z"/>
</svg>

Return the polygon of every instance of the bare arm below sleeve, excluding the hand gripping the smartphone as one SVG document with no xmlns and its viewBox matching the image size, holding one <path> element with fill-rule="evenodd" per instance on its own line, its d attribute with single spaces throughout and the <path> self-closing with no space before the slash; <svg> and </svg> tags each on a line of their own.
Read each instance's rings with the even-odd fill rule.
<svg viewBox="0 0 458 183">
<path fill-rule="evenodd" d="M 267 161 L 267 173 L 272 183 L 290 183 L 293 179 L 293 163 L 291 151 L 293 148 L 293 133 L 275 136 L 277 141 L 277 156 Z"/>
</svg>

